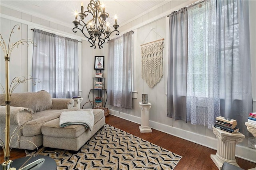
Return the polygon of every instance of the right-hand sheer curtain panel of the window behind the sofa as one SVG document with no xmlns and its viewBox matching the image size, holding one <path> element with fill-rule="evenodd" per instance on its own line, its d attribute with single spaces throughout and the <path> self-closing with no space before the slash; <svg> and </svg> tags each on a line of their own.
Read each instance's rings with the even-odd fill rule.
<svg viewBox="0 0 256 170">
<path fill-rule="evenodd" d="M 78 41 L 56 36 L 56 61 L 56 97 L 78 96 Z"/>
</svg>

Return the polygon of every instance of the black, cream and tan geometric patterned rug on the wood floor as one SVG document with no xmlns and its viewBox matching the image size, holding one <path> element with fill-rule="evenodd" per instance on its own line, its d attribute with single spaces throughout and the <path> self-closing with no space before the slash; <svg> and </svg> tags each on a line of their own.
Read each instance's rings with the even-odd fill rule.
<svg viewBox="0 0 256 170">
<path fill-rule="evenodd" d="M 44 147 L 38 154 L 53 158 L 58 170 L 172 170 L 182 158 L 108 124 L 76 154 Z"/>
</svg>

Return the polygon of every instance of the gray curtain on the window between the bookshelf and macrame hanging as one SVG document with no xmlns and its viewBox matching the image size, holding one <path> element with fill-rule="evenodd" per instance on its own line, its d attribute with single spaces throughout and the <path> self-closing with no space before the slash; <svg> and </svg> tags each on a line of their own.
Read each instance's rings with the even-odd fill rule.
<svg viewBox="0 0 256 170">
<path fill-rule="evenodd" d="M 108 42 L 108 96 L 114 107 L 132 109 L 133 32 Z"/>
</svg>

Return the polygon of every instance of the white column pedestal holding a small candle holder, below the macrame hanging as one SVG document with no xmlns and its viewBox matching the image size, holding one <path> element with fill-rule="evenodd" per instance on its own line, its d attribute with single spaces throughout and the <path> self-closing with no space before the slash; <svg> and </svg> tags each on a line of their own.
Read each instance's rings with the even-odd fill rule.
<svg viewBox="0 0 256 170">
<path fill-rule="evenodd" d="M 149 126 L 149 110 L 151 108 L 150 103 L 139 103 L 140 104 L 140 109 L 141 109 L 141 126 L 140 132 L 141 133 L 151 133 L 152 129 Z"/>
</svg>

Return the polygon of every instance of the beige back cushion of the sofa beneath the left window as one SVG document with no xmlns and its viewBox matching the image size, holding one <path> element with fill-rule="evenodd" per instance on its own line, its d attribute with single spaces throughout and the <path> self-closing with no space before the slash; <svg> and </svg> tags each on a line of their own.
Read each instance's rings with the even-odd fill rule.
<svg viewBox="0 0 256 170">
<path fill-rule="evenodd" d="M 4 98 L 4 95 L 1 95 L 1 105 L 4 105 L 2 98 Z M 10 106 L 26 107 L 31 109 L 33 113 L 52 108 L 52 97 L 50 93 L 44 90 L 38 92 L 12 93 L 10 101 Z"/>
</svg>

